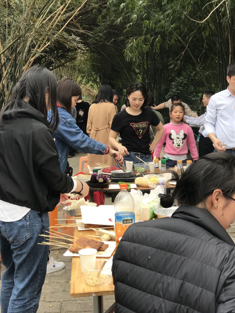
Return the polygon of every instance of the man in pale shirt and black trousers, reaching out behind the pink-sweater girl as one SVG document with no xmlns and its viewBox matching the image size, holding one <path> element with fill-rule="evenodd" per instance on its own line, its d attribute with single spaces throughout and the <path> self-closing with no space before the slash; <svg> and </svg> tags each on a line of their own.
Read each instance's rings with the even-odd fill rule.
<svg viewBox="0 0 235 313">
<path fill-rule="evenodd" d="M 211 99 L 211 96 L 214 95 L 215 92 L 213 90 L 207 90 L 204 92 L 202 97 L 202 102 L 207 110 L 207 105 L 209 104 L 209 101 Z M 211 153 L 214 151 L 214 146 L 212 144 L 212 141 L 208 137 L 204 137 L 202 135 L 204 131 L 204 123 L 206 121 L 206 112 L 202 114 L 199 117 L 192 117 L 185 115 L 184 116 L 184 122 L 191 125 L 191 126 L 201 126 L 199 129 L 200 138 L 198 142 L 198 151 L 199 151 L 199 157 L 205 156 L 208 153 Z"/>
</svg>

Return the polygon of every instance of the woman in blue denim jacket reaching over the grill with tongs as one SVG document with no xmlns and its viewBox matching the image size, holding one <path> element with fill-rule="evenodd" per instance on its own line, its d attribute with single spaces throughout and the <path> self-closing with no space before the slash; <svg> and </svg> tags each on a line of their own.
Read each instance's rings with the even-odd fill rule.
<svg viewBox="0 0 235 313">
<path fill-rule="evenodd" d="M 61 171 L 64 172 L 68 159 L 69 147 L 93 154 L 116 153 L 117 159 L 123 161 L 120 152 L 110 149 L 106 145 L 86 136 L 83 131 L 76 125 L 75 119 L 71 116 L 71 110 L 76 106 L 81 88 L 70 78 L 63 78 L 57 85 L 57 109 L 59 114 L 59 126 L 53 133 L 55 145 L 59 153 L 59 162 Z M 48 119 L 51 118 L 50 112 Z"/>
</svg>

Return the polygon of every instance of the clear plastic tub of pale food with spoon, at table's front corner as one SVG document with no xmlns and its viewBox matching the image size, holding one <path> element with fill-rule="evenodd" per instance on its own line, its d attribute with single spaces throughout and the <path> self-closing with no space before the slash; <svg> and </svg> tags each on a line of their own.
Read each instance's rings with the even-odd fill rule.
<svg viewBox="0 0 235 313">
<path fill-rule="evenodd" d="M 87 285 L 92 287 L 106 286 L 112 282 L 112 264 L 108 262 L 98 276 L 101 266 L 105 261 L 107 261 L 107 259 L 96 259 L 95 261 L 89 261 L 83 264 L 82 268 Z"/>
</svg>

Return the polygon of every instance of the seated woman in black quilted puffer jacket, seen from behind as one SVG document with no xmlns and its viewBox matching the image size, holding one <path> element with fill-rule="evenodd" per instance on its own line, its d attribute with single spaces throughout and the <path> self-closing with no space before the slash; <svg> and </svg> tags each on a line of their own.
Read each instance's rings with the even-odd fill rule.
<svg viewBox="0 0 235 313">
<path fill-rule="evenodd" d="M 235 157 L 208 154 L 186 169 L 171 218 L 129 227 L 113 259 L 115 313 L 235 312 Z"/>
</svg>

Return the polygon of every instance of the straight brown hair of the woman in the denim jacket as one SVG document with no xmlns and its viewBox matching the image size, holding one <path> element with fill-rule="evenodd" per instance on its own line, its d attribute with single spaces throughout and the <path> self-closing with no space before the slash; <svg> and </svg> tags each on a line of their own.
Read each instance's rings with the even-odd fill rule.
<svg viewBox="0 0 235 313">
<path fill-rule="evenodd" d="M 80 96 L 80 86 L 71 78 L 63 78 L 57 85 L 57 101 L 71 114 L 72 97 Z"/>
</svg>

